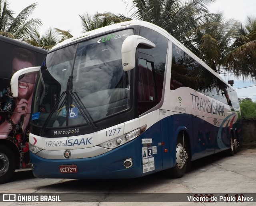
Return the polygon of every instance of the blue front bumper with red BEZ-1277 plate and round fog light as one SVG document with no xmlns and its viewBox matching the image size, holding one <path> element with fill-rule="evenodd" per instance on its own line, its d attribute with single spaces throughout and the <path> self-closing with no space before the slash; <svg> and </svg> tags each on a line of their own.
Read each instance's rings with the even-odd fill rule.
<svg viewBox="0 0 256 206">
<path fill-rule="evenodd" d="M 136 141 L 122 145 L 102 155 L 80 159 L 44 159 L 30 152 L 32 171 L 38 178 L 64 179 L 124 179 L 142 176 L 141 149 Z M 136 148 L 138 147 L 138 148 Z M 130 161 L 132 165 L 124 164 Z M 73 166 L 72 166 L 73 165 Z M 125 166 L 126 165 L 126 166 Z M 66 171 L 63 167 L 72 167 Z"/>
</svg>

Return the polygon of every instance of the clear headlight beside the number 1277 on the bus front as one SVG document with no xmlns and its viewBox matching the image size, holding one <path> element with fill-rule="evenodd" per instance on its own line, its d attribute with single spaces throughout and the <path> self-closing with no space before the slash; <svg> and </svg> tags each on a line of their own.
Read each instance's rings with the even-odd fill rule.
<svg viewBox="0 0 256 206">
<path fill-rule="evenodd" d="M 141 133 L 141 128 L 135 129 L 134 131 L 131 131 L 129 133 L 126 133 L 122 136 L 116 137 L 114 139 L 110 139 L 104 143 L 101 143 L 99 146 L 100 147 L 105 147 L 108 149 L 114 149 L 116 147 L 119 147 L 129 141 L 132 141 L 132 139 L 135 139 L 140 135 Z"/>
</svg>

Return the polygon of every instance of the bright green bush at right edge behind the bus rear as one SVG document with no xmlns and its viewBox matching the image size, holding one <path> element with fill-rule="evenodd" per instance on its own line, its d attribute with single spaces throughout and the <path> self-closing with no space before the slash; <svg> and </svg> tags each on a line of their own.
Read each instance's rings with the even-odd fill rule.
<svg viewBox="0 0 256 206">
<path fill-rule="evenodd" d="M 240 108 L 242 119 L 256 119 L 256 102 L 253 102 L 252 99 L 243 99 L 242 102 L 240 102 Z"/>
</svg>

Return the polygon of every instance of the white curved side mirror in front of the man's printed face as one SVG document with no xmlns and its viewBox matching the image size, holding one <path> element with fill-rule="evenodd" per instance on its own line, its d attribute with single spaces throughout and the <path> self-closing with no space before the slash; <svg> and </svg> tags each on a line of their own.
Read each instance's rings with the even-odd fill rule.
<svg viewBox="0 0 256 206">
<path fill-rule="evenodd" d="M 40 70 L 40 67 L 28 67 L 24 69 L 20 69 L 19 71 L 16 71 L 14 75 L 12 75 L 11 78 L 11 90 L 12 90 L 12 96 L 17 97 L 18 96 L 18 82 L 21 78 L 23 78 L 26 74 L 34 74 L 37 73 Z"/>
</svg>

